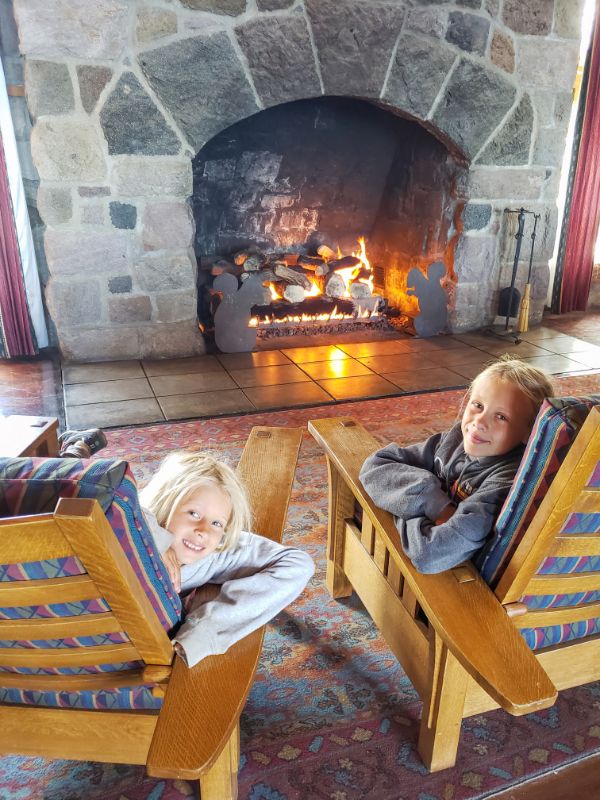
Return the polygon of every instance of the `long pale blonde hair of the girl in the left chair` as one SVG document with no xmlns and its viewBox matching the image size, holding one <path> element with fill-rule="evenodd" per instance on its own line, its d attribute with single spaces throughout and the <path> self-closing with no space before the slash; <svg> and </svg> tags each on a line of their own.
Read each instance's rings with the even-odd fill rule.
<svg viewBox="0 0 600 800">
<path fill-rule="evenodd" d="M 251 513 L 246 492 L 236 473 L 207 453 L 179 450 L 170 453 L 158 471 L 140 492 L 144 508 L 151 511 L 158 524 L 169 528 L 177 506 L 203 486 L 220 489 L 231 500 L 231 514 L 225 525 L 220 550 L 236 547 L 240 533 L 249 530 Z"/>
</svg>

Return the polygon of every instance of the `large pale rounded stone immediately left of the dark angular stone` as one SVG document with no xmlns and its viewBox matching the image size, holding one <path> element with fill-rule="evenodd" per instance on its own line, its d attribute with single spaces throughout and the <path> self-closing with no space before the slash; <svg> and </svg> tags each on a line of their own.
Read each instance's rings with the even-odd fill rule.
<svg viewBox="0 0 600 800">
<path fill-rule="evenodd" d="M 43 180 L 95 181 L 106 175 L 98 129 L 87 119 L 39 119 L 31 132 L 31 151 Z"/>
</svg>

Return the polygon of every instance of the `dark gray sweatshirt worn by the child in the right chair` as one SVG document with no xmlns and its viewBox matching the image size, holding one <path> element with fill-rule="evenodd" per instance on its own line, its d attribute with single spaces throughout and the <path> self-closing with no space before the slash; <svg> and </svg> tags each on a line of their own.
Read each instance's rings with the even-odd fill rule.
<svg viewBox="0 0 600 800">
<path fill-rule="evenodd" d="M 485 544 L 523 450 L 519 445 L 505 455 L 471 458 L 457 423 L 425 442 L 378 450 L 366 459 L 360 480 L 373 501 L 394 515 L 402 548 L 419 572 L 442 572 Z M 436 525 L 450 502 L 453 516 Z"/>
</svg>

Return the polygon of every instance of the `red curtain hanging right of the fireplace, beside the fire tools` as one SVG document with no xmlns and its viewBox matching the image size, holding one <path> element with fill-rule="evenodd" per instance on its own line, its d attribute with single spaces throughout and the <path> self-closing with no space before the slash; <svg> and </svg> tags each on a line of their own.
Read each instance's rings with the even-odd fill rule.
<svg viewBox="0 0 600 800">
<path fill-rule="evenodd" d="M 560 311 L 585 311 L 600 222 L 600 13 L 592 36 L 585 113 L 573 182 Z"/>
</svg>

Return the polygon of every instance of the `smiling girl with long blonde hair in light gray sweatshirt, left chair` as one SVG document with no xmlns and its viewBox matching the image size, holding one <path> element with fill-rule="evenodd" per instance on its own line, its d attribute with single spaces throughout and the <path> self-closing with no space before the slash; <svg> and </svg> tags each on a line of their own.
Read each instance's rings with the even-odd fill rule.
<svg viewBox="0 0 600 800">
<path fill-rule="evenodd" d="M 173 639 L 192 667 L 264 625 L 291 603 L 314 572 L 310 556 L 248 533 L 250 512 L 235 472 L 210 456 L 172 453 L 140 492 L 144 514 L 175 589 L 188 595 Z"/>
</svg>

